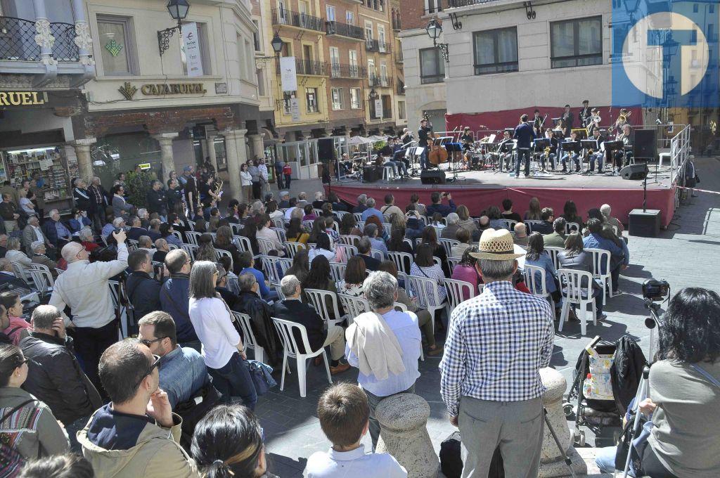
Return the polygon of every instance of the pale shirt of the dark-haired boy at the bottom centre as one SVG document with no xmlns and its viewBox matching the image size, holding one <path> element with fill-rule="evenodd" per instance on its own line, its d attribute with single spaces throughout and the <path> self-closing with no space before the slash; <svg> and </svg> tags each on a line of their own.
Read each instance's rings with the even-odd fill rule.
<svg viewBox="0 0 720 478">
<path fill-rule="evenodd" d="M 387 453 L 365 454 L 361 445 L 351 451 L 317 451 L 307 459 L 307 478 L 406 478 L 408 472 Z"/>
</svg>

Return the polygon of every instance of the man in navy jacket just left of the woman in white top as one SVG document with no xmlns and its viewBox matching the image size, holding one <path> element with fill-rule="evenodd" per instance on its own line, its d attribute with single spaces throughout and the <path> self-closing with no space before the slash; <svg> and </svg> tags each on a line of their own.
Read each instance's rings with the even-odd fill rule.
<svg viewBox="0 0 720 478">
<path fill-rule="evenodd" d="M 160 305 L 175 321 L 177 339 L 181 347 L 192 347 L 200 351 L 200 341 L 190 322 L 188 301 L 190 295 L 190 257 L 182 249 L 168 252 L 165 266 L 170 278 L 160 289 Z"/>
</svg>

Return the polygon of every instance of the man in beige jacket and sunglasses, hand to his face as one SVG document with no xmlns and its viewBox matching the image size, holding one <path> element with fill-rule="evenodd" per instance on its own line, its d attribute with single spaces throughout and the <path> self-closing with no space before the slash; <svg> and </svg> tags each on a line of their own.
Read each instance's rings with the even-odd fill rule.
<svg viewBox="0 0 720 478">
<path fill-rule="evenodd" d="M 182 420 L 159 387 L 159 361 L 135 341 L 114 343 L 102 354 L 100 379 L 112 402 L 77 435 L 97 477 L 199 477 L 179 445 Z"/>
</svg>

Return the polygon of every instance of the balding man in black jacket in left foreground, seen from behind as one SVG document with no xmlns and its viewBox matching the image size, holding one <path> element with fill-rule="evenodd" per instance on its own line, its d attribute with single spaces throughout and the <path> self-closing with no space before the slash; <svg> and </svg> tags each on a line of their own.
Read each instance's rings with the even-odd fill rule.
<svg viewBox="0 0 720 478">
<path fill-rule="evenodd" d="M 73 449 L 79 450 L 75 433 L 102 406 L 102 400 L 75 358 L 73 338 L 66 335 L 60 311 L 53 305 L 37 306 L 32 312 L 32 333 L 19 346 L 28 359 L 22 388 L 48 404 L 68 430 Z"/>
</svg>

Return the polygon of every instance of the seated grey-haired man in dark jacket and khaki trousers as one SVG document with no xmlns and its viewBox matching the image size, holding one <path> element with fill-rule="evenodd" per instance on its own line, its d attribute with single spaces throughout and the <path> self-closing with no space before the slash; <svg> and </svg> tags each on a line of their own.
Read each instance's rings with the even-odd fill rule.
<svg viewBox="0 0 720 478">
<path fill-rule="evenodd" d="M 312 305 L 300 302 L 300 281 L 296 276 L 284 276 L 280 281 L 280 289 L 285 295 L 285 300 L 275 302 L 272 305 L 272 317 L 282 320 L 290 320 L 305 326 L 307 341 L 312 351 L 320 347 L 330 346 L 330 374 L 339 374 L 350 368 L 344 360 L 345 356 L 345 333 L 340 325 L 333 325 L 325 332 L 325 321 L 320 317 L 318 311 Z M 302 338 L 297 330 L 293 330 L 295 341 L 303 349 Z M 307 351 L 306 351 L 307 352 Z"/>
</svg>

